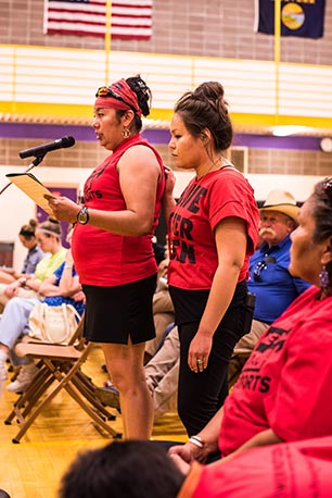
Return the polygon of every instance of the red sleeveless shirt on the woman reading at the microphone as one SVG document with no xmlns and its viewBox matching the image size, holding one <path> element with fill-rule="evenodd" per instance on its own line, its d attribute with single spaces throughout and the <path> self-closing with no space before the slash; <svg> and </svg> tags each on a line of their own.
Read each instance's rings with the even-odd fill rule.
<svg viewBox="0 0 332 498">
<path fill-rule="evenodd" d="M 117 286 L 146 278 L 157 271 L 152 236 L 161 213 L 165 174 L 162 158 L 146 140 L 140 135 L 130 137 L 93 171 L 85 184 L 85 204 L 101 211 L 127 209 L 116 165 L 124 152 L 137 145 L 144 145 L 153 150 L 162 171 L 151 234 L 130 237 L 77 223 L 73 234 L 72 251 L 81 284 Z"/>
</svg>

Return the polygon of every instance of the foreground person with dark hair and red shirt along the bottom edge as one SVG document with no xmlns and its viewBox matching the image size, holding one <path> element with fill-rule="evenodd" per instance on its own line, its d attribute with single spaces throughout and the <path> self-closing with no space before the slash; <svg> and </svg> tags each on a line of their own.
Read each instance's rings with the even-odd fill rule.
<svg viewBox="0 0 332 498">
<path fill-rule="evenodd" d="M 193 462 L 182 471 L 153 441 L 114 441 L 78 455 L 59 497 L 330 498 L 331 464 L 331 436 L 254 448 L 214 465 Z"/>
</svg>

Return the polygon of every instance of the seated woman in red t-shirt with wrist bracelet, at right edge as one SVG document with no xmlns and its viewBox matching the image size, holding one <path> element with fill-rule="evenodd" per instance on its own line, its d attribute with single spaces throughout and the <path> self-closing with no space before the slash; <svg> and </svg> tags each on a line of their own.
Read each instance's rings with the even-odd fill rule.
<svg viewBox="0 0 332 498">
<path fill-rule="evenodd" d="M 332 434 L 332 178 L 315 186 L 298 222 L 290 273 L 312 285 L 258 339 L 225 406 L 169 449 L 187 463 Z"/>
</svg>

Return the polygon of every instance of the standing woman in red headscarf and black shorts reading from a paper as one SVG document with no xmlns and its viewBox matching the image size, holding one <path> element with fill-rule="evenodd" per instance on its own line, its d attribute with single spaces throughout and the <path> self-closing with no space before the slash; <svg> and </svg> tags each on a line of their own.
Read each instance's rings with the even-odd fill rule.
<svg viewBox="0 0 332 498">
<path fill-rule="evenodd" d="M 155 337 L 152 236 L 165 174 L 162 158 L 140 135 L 150 100 L 140 76 L 99 88 L 92 126 L 112 153 L 87 179 L 84 206 L 49 199 L 59 220 L 77 222 L 72 250 L 87 298 L 84 334 L 103 348 L 119 390 L 124 435 L 130 439 L 150 438 L 153 423 L 143 356 L 145 341 Z"/>
</svg>

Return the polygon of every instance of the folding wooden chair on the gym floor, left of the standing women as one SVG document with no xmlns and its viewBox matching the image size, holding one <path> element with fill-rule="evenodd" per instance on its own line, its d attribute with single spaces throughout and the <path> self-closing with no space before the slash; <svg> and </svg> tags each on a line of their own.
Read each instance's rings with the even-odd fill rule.
<svg viewBox="0 0 332 498">
<path fill-rule="evenodd" d="M 20 343 L 15 347 L 18 356 L 27 357 L 37 363 L 39 372 L 4 421 L 10 425 L 14 418 L 18 420 L 21 428 L 12 439 L 13 443 L 20 443 L 44 407 L 62 389 L 69 394 L 100 428 L 114 438 L 122 437 L 106 423 L 107 420 L 115 420 L 115 415 L 101 403 L 95 396 L 97 386 L 81 371 L 81 365 L 92 348 L 92 344 L 86 343 L 81 335 L 82 322 L 84 319 L 80 320 L 68 346 L 28 341 Z M 43 395 L 46 396 L 41 400 Z"/>
</svg>

